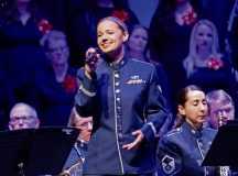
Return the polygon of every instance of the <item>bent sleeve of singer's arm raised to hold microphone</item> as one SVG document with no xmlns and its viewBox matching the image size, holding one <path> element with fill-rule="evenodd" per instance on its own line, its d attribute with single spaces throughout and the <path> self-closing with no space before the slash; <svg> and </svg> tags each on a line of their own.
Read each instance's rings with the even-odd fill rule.
<svg viewBox="0 0 238 176">
<path fill-rule="evenodd" d="M 77 73 L 77 86 L 78 92 L 75 96 L 75 108 L 79 116 L 90 117 L 93 116 L 96 97 L 96 74 L 93 79 L 88 79 L 85 75 L 84 68 L 80 68 Z"/>
</svg>

